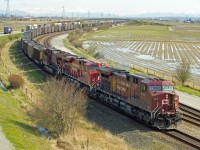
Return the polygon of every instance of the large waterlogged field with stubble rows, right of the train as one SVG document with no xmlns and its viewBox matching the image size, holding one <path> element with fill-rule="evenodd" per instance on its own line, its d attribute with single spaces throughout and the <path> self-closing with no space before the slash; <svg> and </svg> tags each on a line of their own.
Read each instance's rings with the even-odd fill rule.
<svg viewBox="0 0 200 150">
<path fill-rule="evenodd" d="M 172 78 L 185 59 L 191 63 L 194 81 L 200 78 L 200 24 L 124 24 L 92 33 L 84 40 L 85 47 L 95 47 L 108 59 Z"/>
</svg>

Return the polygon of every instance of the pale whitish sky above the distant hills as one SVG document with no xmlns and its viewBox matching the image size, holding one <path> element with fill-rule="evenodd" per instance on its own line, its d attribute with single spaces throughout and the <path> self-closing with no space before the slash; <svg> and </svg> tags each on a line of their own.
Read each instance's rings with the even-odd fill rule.
<svg viewBox="0 0 200 150">
<path fill-rule="evenodd" d="M 144 13 L 200 14 L 200 0 L 10 0 L 11 10 L 31 14 L 65 12 L 111 13 L 119 16 Z M 6 10 L 6 0 L 0 0 Z"/>
</svg>

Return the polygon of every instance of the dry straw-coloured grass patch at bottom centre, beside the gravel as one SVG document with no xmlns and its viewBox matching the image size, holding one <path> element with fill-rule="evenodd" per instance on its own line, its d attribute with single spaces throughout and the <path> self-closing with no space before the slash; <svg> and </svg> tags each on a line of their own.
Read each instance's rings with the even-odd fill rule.
<svg viewBox="0 0 200 150">
<path fill-rule="evenodd" d="M 67 138 L 67 139 L 66 139 Z M 109 131 L 99 128 L 94 123 L 81 120 L 81 125 L 74 135 L 62 138 L 74 149 L 115 149 L 131 150 L 124 140 L 113 136 Z"/>
</svg>

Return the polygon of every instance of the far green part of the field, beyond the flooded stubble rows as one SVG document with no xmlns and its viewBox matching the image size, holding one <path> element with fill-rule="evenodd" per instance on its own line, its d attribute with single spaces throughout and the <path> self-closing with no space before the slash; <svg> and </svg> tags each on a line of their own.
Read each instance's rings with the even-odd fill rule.
<svg viewBox="0 0 200 150">
<path fill-rule="evenodd" d="M 178 26 L 178 24 L 177 24 Z M 176 26 L 176 27 L 177 27 Z M 194 25 L 195 26 L 195 25 Z M 84 37 L 84 40 L 92 41 L 199 41 L 199 32 L 185 32 L 184 30 L 173 30 L 174 26 L 159 26 L 159 25 L 123 25 L 105 30 L 98 33 L 93 33 Z M 196 30 L 198 31 L 198 30 Z M 124 37 L 124 35 L 127 35 Z M 193 38 L 191 38 L 193 37 Z"/>
</svg>

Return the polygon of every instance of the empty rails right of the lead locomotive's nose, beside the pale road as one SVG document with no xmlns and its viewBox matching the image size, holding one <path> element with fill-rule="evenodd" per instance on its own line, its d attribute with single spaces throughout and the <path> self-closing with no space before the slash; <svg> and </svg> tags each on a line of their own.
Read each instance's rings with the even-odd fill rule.
<svg viewBox="0 0 200 150">
<path fill-rule="evenodd" d="M 189 107 L 184 104 L 180 104 L 180 109 L 183 112 L 182 120 L 200 127 L 200 111 L 199 110 Z"/>
</svg>

